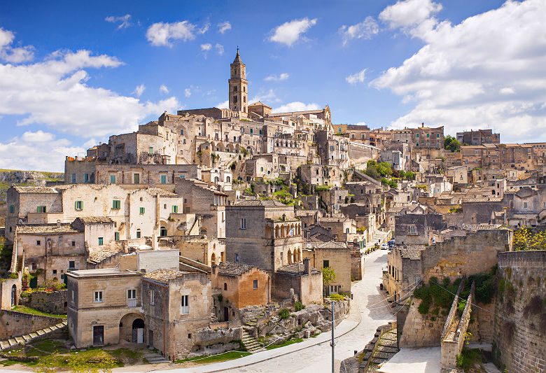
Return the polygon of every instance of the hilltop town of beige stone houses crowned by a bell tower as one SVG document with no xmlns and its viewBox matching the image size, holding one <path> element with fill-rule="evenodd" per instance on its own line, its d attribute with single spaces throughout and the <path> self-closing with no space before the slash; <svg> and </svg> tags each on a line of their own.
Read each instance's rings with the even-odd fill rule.
<svg viewBox="0 0 546 373">
<path fill-rule="evenodd" d="M 2 356 L 36 363 L 47 339 L 120 346 L 126 365 L 237 351 L 221 368 L 251 371 L 300 345 L 329 367 L 313 341 L 334 325 L 346 372 L 400 372 L 417 348 L 451 372 L 472 344 L 544 372 L 546 143 L 338 125 L 248 94 L 237 51 L 228 108 L 158 113 L 66 155 L 64 182 L 8 188 Z"/>
</svg>

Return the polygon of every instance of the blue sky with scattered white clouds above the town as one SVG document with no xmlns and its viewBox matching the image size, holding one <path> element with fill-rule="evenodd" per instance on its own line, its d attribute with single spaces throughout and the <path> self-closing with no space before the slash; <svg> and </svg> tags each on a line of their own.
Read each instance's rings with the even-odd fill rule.
<svg viewBox="0 0 546 373">
<path fill-rule="evenodd" d="M 546 0 L 3 1 L 0 168 L 66 155 L 167 111 L 249 101 L 335 124 L 491 128 L 546 141 Z"/>
</svg>

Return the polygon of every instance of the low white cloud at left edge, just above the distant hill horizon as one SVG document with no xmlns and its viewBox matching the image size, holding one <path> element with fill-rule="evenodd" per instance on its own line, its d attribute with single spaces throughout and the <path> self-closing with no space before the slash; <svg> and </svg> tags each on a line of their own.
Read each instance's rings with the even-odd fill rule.
<svg viewBox="0 0 546 373">
<path fill-rule="evenodd" d="M 73 146 L 67 139 L 56 139 L 50 132 L 25 132 L 0 142 L 0 168 L 62 172 L 66 155 L 83 152 L 85 147 Z"/>
</svg>

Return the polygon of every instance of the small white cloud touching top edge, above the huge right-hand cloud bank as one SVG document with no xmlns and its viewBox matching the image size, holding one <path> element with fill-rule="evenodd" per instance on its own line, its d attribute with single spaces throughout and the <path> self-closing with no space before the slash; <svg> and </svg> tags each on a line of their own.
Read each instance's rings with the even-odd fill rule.
<svg viewBox="0 0 546 373">
<path fill-rule="evenodd" d="M 431 0 L 405 0 L 387 6 L 379 13 L 379 20 L 391 29 L 412 27 L 430 20 L 430 16 L 442 10 L 442 4 Z"/>
</svg>

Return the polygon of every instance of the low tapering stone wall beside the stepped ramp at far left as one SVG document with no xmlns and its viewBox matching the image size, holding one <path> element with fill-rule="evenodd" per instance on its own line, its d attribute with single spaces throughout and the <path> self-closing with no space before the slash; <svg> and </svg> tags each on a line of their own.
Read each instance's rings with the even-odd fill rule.
<svg viewBox="0 0 546 373">
<path fill-rule="evenodd" d="M 56 325 L 61 321 L 62 319 L 56 317 L 23 314 L 16 311 L 0 311 L 0 339 L 19 337 Z"/>
</svg>

